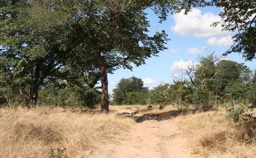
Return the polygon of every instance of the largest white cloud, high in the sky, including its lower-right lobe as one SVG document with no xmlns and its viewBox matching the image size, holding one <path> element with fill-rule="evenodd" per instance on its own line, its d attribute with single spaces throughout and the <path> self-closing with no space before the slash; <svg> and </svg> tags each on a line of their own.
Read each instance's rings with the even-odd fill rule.
<svg viewBox="0 0 256 158">
<path fill-rule="evenodd" d="M 221 25 L 212 27 L 212 23 L 221 21 L 219 15 L 202 13 L 200 9 L 193 8 L 187 15 L 184 11 L 173 15 L 175 25 L 172 30 L 182 36 L 206 37 L 208 43 L 215 46 L 231 45 L 231 32 L 222 31 Z"/>
</svg>

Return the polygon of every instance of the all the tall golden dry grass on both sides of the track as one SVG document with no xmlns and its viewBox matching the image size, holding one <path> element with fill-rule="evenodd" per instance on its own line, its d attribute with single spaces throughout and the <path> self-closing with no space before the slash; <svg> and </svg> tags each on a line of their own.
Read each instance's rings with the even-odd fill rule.
<svg viewBox="0 0 256 158">
<path fill-rule="evenodd" d="M 0 157 L 48 157 L 51 148 L 65 148 L 64 157 L 86 157 L 100 144 L 114 141 L 115 135 L 129 131 L 135 124 L 131 118 L 116 115 L 123 110 L 174 119 L 195 154 L 256 157 L 255 122 L 232 123 L 224 110 L 200 113 L 177 110 L 172 105 L 163 110 L 154 106 L 152 111 L 142 105 L 110 109 L 109 114 L 102 114 L 81 108 L 39 107 L 31 111 L 22 107 L 0 108 Z"/>
</svg>

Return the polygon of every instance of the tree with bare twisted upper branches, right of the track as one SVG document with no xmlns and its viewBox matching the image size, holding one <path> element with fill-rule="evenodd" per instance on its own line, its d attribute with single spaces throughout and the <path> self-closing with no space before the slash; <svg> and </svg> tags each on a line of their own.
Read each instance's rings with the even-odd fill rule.
<svg viewBox="0 0 256 158">
<path fill-rule="evenodd" d="M 216 63 L 221 57 L 215 56 L 214 52 L 208 56 L 200 57 L 199 64 L 188 67 L 186 73 L 189 76 L 193 88 L 192 103 L 196 108 L 209 110 L 217 101 L 214 95 L 214 78 L 217 74 Z"/>
</svg>

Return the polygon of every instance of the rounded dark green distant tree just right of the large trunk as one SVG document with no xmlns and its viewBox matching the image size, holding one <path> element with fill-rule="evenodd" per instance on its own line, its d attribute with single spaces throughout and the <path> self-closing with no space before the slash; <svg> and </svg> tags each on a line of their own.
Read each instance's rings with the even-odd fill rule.
<svg viewBox="0 0 256 158">
<path fill-rule="evenodd" d="M 140 78 L 122 78 L 113 90 L 113 102 L 118 105 L 145 104 L 148 92 Z"/>
</svg>

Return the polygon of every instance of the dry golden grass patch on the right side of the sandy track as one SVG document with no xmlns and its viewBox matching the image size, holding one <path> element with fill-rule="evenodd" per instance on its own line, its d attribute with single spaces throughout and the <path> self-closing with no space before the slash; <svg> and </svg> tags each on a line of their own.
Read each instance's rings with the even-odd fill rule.
<svg viewBox="0 0 256 158">
<path fill-rule="evenodd" d="M 188 145 L 205 157 L 256 157 L 256 123 L 235 124 L 224 110 L 180 116 Z"/>
</svg>

